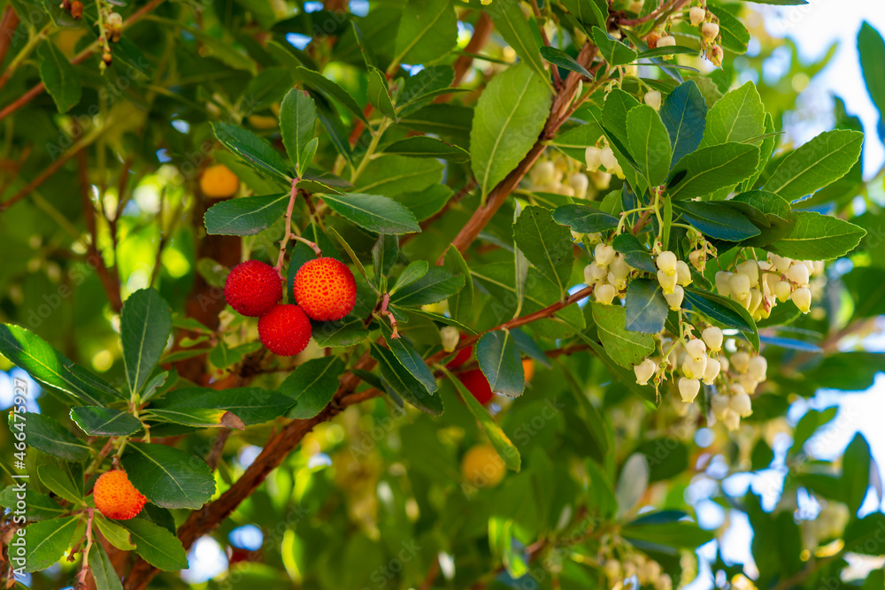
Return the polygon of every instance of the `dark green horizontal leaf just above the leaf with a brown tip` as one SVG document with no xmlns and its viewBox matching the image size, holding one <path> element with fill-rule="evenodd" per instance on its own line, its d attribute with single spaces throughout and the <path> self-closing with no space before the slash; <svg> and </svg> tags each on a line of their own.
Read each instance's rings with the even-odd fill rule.
<svg viewBox="0 0 885 590">
<path fill-rule="evenodd" d="M 292 407 L 288 395 L 260 387 L 235 387 L 216 391 L 203 387 L 176 389 L 173 402 L 165 410 L 182 408 L 220 408 L 242 420 L 247 426 L 263 424 L 279 418 Z"/>
</svg>

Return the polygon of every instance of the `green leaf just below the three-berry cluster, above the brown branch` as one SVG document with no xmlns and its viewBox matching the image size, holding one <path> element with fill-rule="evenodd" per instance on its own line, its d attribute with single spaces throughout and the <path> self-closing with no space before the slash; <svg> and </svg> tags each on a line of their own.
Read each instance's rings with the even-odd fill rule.
<svg viewBox="0 0 885 590">
<path fill-rule="evenodd" d="M 322 356 L 298 365 L 280 384 L 280 393 L 295 399 L 289 418 L 313 418 L 321 412 L 338 390 L 338 378 L 344 372 L 340 356 Z"/>
</svg>

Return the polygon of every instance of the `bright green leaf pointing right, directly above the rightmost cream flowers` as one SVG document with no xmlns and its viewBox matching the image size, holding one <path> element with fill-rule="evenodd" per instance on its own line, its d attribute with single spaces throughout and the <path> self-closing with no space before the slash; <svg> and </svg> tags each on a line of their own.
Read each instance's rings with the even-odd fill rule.
<svg viewBox="0 0 885 590">
<path fill-rule="evenodd" d="M 833 260 L 855 249 L 866 235 L 862 227 L 813 211 L 793 213 L 790 223 L 789 234 L 766 249 L 798 260 Z"/>
</svg>

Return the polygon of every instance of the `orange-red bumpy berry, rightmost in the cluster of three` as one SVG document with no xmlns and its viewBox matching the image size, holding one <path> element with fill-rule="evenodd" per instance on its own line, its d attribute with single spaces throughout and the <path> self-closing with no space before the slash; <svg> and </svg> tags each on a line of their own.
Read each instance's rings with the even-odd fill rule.
<svg viewBox="0 0 885 590">
<path fill-rule="evenodd" d="M 357 302 L 357 281 L 341 261 L 314 258 L 305 262 L 295 275 L 295 299 L 312 319 L 320 322 L 341 319 Z"/>
</svg>

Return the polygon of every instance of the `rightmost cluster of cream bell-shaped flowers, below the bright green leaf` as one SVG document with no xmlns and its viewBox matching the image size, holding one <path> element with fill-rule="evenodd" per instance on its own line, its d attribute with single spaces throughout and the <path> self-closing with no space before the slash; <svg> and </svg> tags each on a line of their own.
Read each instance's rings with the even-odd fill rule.
<svg viewBox="0 0 885 590">
<path fill-rule="evenodd" d="M 803 313 L 812 307 L 809 279 L 823 272 L 823 262 L 790 260 L 768 254 L 767 260 L 745 260 L 735 272 L 716 273 L 716 290 L 750 312 L 754 320 L 768 318 L 773 307 L 788 299 Z"/>
</svg>

